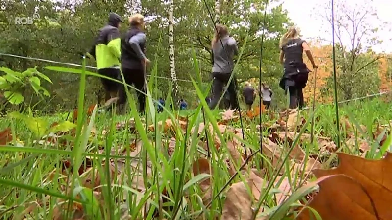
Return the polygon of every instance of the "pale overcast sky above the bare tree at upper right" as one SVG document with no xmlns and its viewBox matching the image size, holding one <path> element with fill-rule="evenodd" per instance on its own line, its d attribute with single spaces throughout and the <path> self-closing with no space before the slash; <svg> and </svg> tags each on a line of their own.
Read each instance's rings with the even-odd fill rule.
<svg viewBox="0 0 392 220">
<path fill-rule="evenodd" d="M 335 0 L 339 2 L 342 0 Z M 356 4 L 370 4 L 377 11 L 377 15 L 382 21 L 392 22 L 392 0 L 345 0 L 346 5 L 354 7 Z M 371 2 L 370 2 L 371 1 Z M 282 0 L 283 8 L 288 11 L 290 19 L 300 28 L 301 35 L 304 38 L 318 38 L 325 37 L 332 41 L 332 26 L 325 19 L 320 18 L 319 12 L 325 14 L 325 9 L 320 7 L 330 2 L 330 0 Z M 300 3 L 299 3 L 300 2 Z M 370 2 L 370 3 L 368 3 Z M 339 8 L 335 7 L 335 11 Z M 377 20 L 368 20 L 368 23 L 372 27 L 379 27 L 380 22 Z M 392 32 L 391 23 L 388 25 L 383 25 L 385 27 L 384 31 L 379 31 L 377 37 L 383 40 L 381 45 L 373 46 L 373 50 L 376 52 L 381 52 L 385 50 L 388 53 L 392 53 Z M 326 36 L 325 36 L 326 35 Z M 335 41 L 337 39 L 335 38 Z M 345 42 L 347 44 L 350 41 L 350 37 L 347 35 L 345 37 Z"/>
</svg>

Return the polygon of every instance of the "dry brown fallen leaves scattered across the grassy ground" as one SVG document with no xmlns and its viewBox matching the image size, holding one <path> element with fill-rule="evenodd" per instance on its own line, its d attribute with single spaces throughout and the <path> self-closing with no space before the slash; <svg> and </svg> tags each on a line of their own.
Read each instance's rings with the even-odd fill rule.
<svg viewBox="0 0 392 220">
<path fill-rule="evenodd" d="M 113 100 L 112 100 L 113 101 Z M 117 100 L 114 100 L 117 101 Z M 114 102 L 113 101 L 113 102 Z M 91 112 L 94 108 L 89 108 Z M 262 112 L 264 107 L 262 108 Z M 252 111 L 246 112 L 246 116 L 252 120 L 260 115 L 259 108 L 254 108 Z M 75 113 L 74 113 L 75 114 Z M 89 113 L 88 113 L 89 114 Z M 77 111 L 76 111 L 77 115 Z M 74 115 L 75 116 L 75 115 Z M 380 147 L 387 143 L 387 137 L 390 133 L 389 127 L 377 126 L 373 132 L 373 139 L 368 140 L 366 137 L 369 131 L 365 126 L 360 126 L 356 129 L 346 116 L 340 120 L 342 131 L 346 134 L 341 143 L 344 144 L 350 151 L 358 151 L 362 154 L 360 156 L 352 156 L 348 154 L 337 153 L 337 144 L 334 139 L 329 137 L 314 136 L 314 142 L 311 143 L 311 135 L 309 133 L 302 133 L 299 131 L 306 123 L 305 118 L 301 113 L 294 110 L 284 110 L 280 112 L 279 117 L 272 124 L 264 124 L 257 132 L 253 131 L 257 140 L 261 139 L 260 153 L 263 154 L 264 169 L 255 169 L 255 161 L 253 158 L 247 157 L 252 154 L 250 149 L 244 149 L 243 144 L 247 128 L 236 128 L 235 124 L 240 118 L 234 110 L 227 110 L 221 113 L 221 119 L 218 124 L 213 126 L 211 123 L 199 123 L 192 128 L 188 128 L 191 134 L 197 134 L 199 137 L 199 147 L 197 150 L 202 152 L 212 152 L 212 147 L 216 148 L 220 153 L 216 158 L 209 158 L 206 155 L 200 156 L 192 164 L 193 175 L 210 174 L 211 177 L 204 179 L 197 183 L 198 190 L 201 191 L 203 204 L 207 206 L 212 202 L 213 195 L 215 196 L 217 189 L 214 189 L 214 179 L 212 176 L 214 172 L 222 172 L 213 169 L 211 161 L 225 161 L 227 162 L 227 171 L 230 176 L 242 175 L 245 181 L 235 179 L 237 182 L 228 184 L 228 188 L 224 191 L 225 200 L 222 204 L 221 220 L 268 220 L 273 215 L 273 209 L 263 204 L 260 210 L 255 211 L 258 199 L 263 196 L 269 201 L 269 204 L 274 206 L 282 205 L 287 201 L 294 192 L 302 190 L 304 187 L 319 185 L 318 192 L 312 192 L 306 196 L 309 202 L 297 201 L 296 206 L 291 206 L 290 219 L 293 216 L 293 211 L 299 212 L 298 220 L 310 220 L 313 215 L 306 206 L 317 210 L 323 220 L 389 220 L 392 219 L 392 212 L 389 211 L 389 201 L 392 196 L 392 178 L 389 177 L 388 171 L 392 169 L 392 155 L 387 154 L 385 158 L 379 161 L 367 160 L 364 155 L 372 148 L 372 144 Z M 317 121 L 317 119 L 316 119 Z M 71 122 L 70 122 L 71 123 Z M 167 151 L 169 156 L 174 154 L 178 149 L 179 132 L 187 132 L 188 119 L 184 117 L 177 117 L 175 119 L 168 118 L 158 121 L 156 125 L 145 125 L 149 132 L 162 131 L 162 142 L 156 144 L 154 142 L 143 143 L 141 140 L 132 140 L 127 144 L 116 144 L 111 149 L 98 149 L 96 153 L 111 155 L 129 156 L 131 159 L 110 159 L 106 160 L 103 157 L 84 157 L 83 163 L 80 167 L 73 167 L 71 159 L 59 161 L 57 166 L 61 167 L 61 173 L 56 174 L 57 168 L 54 169 L 44 180 L 44 183 L 56 181 L 58 183 L 60 193 L 71 196 L 70 192 L 70 177 L 77 175 L 79 180 L 77 184 L 83 187 L 83 192 L 89 192 L 98 202 L 98 209 L 92 215 L 101 215 L 105 207 L 105 201 L 102 193 L 102 185 L 107 183 L 107 179 L 112 184 L 125 185 L 132 188 L 135 192 L 136 203 L 142 202 L 142 198 L 147 192 L 148 187 L 143 181 L 143 174 L 147 174 L 152 178 L 152 163 L 150 158 L 147 158 L 147 170 L 143 170 L 141 164 L 140 153 L 145 144 L 152 144 L 154 148 L 160 151 Z M 61 127 L 61 126 L 63 127 Z M 61 127 L 61 128 L 60 128 Z M 128 128 L 129 132 L 137 132 L 135 120 L 132 118 L 128 121 L 119 122 L 116 124 L 116 130 L 123 130 Z M 215 128 L 215 129 L 214 129 Z M 218 129 L 216 129 L 218 128 Z M 37 143 L 42 145 L 69 143 L 69 136 L 75 133 L 75 125 L 55 123 L 45 131 L 50 131 L 49 134 L 44 135 Z M 268 136 L 260 138 L 260 133 L 268 131 Z M 103 131 L 102 135 L 107 132 Z M 91 133 L 92 139 L 97 139 L 97 132 L 93 129 Z M 223 137 L 223 139 L 220 138 Z M 0 145 L 7 145 L 12 139 L 11 129 L 7 128 L 0 132 Z M 250 137 L 245 137 L 245 141 L 250 140 Z M 187 146 L 188 143 L 184 142 Z M 183 143 L 183 144 L 184 144 Z M 316 145 L 318 154 L 307 154 L 303 149 L 307 145 Z M 343 145 L 341 144 L 341 146 Z M 185 146 L 185 147 L 186 147 Z M 226 146 L 227 148 L 224 148 Z M 181 146 L 182 147 L 182 146 Z M 160 148 L 160 149 L 159 149 Z M 245 152 L 246 151 L 246 152 Z M 290 151 L 290 153 L 289 153 Z M 89 152 L 90 153 L 90 152 Z M 226 154 L 227 153 L 227 154 Z M 320 159 L 322 156 L 332 157 L 338 155 L 340 165 L 337 168 L 322 170 L 321 168 L 328 168 Z M 284 163 L 285 157 L 288 161 Z M 245 161 L 248 162 L 245 164 Z M 250 162 L 249 162 L 250 161 Z M 264 167 L 266 166 L 266 167 Z M 101 168 L 101 171 L 96 168 Z M 276 169 L 282 168 L 279 172 Z M 75 168 L 75 170 L 73 170 Z M 108 168 L 109 173 L 106 172 Z M 77 170 L 76 170 L 77 169 Z M 132 176 L 127 176 L 125 169 L 131 169 Z M 223 168 L 225 169 L 225 168 Z M 276 173 L 271 174 L 271 170 Z M 105 171 L 105 172 L 102 172 Z M 276 179 L 272 179 L 271 175 L 277 175 Z M 311 177 L 317 177 L 316 181 L 311 181 Z M 297 178 L 294 178 L 297 177 Z M 68 179 L 70 178 L 70 179 Z M 187 177 L 188 178 L 188 177 Z M 272 184 L 272 190 L 266 192 L 268 184 Z M 248 191 L 248 189 L 250 191 Z M 116 189 L 117 190 L 117 189 Z M 129 191 L 126 189 L 119 189 L 120 195 L 123 195 L 124 201 L 120 201 L 120 210 L 122 219 L 134 218 L 131 213 L 126 211 Z M 166 187 L 161 193 L 160 201 L 168 201 L 166 197 L 171 194 L 172 189 Z M 249 193 L 250 192 L 250 193 Z M 149 200 L 154 200 L 156 195 L 148 195 Z M 188 195 L 185 196 L 188 199 Z M 76 195 L 77 199 L 81 199 L 81 194 Z M 47 200 L 50 197 L 47 197 Z M 53 210 L 54 219 L 64 219 L 64 210 L 67 207 L 72 207 L 72 219 L 84 220 L 87 218 L 89 210 L 77 201 L 69 205 L 63 199 L 57 199 L 57 206 Z M 144 201 L 143 201 L 144 202 Z M 155 201 L 154 201 L 155 202 Z M 150 201 L 146 201 L 146 207 L 150 207 Z M 32 214 L 37 206 L 43 206 L 42 202 L 37 202 L 26 208 L 25 212 L 20 214 L 21 218 Z M 209 208 L 209 207 L 206 207 Z M 165 206 L 165 211 L 171 210 L 172 206 Z M 271 211 L 272 210 L 272 211 Z M 91 210 L 90 210 L 91 211 Z M 159 213 L 156 211 L 153 217 L 156 218 Z M 217 214 L 217 218 L 218 218 Z M 294 218 L 293 218 L 294 219 Z"/>
</svg>

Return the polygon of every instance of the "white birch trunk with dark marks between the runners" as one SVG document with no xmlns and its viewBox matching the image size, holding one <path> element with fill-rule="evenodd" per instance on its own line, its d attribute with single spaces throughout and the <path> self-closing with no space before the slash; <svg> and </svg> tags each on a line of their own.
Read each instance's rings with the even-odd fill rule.
<svg viewBox="0 0 392 220">
<path fill-rule="evenodd" d="M 177 96 L 178 92 L 178 84 L 177 84 L 177 75 L 175 74 L 175 62 L 174 62 L 174 28 L 173 28 L 173 8 L 174 1 L 169 0 L 169 63 L 170 63 L 170 72 L 173 81 L 173 96 Z"/>
</svg>

